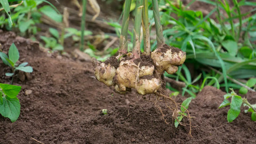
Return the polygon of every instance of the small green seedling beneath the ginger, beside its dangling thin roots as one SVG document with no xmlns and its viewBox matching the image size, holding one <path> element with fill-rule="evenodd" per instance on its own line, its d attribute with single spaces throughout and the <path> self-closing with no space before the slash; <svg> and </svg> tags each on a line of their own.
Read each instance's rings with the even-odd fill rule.
<svg viewBox="0 0 256 144">
<path fill-rule="evenodd" d="M 174 122 L 174 126 L 177 128 L 178 125 L 181 123 L 181 120 L 183 117 L 186 117 L 187 116 L 187 109 L 188 109 L 188 106 L 189 106 L 189 103 L 191 102 L 192 98 L 187 98 L 186 100 L 184 100 L 181 104 L 181 107 L 180 107 L 180 111 L 178 113 L 178 117 L 175 119 L 175 122 Z"/>
</svg>

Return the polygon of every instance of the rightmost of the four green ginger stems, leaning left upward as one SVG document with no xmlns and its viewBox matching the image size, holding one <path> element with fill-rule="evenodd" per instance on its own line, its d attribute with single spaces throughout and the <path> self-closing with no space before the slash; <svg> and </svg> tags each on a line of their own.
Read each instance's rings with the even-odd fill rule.
<svg viewBox="0 0 256 144">
<path fill-rule="evenodd" d="M 153 5 L 155 25 L 156 25 L 156 41 L 157 41 L 157 46 L 160 46 L 164 43 L 164 36 L 163 36 L 163 28 L 161 26 L 161 21 L 160 21 L 160 14 L 158 11 L 157 0 L 152 0 L 152 5 Z"/>
</svg>

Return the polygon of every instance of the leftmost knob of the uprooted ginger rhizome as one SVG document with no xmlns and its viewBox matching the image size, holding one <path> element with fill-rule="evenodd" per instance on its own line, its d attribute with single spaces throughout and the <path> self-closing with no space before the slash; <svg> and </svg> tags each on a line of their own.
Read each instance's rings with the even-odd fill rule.
<svg viewBox="0 0 256 144">
<path fill-rule="evenodd" d="M 116 75 L 115 67 L 110 64 L 106 65 L 103 62 L 99 62 L 97 59 L 92 58 L 92 64 L 95 70 L 95 77 L 105 83 L 107 86 L 113 85 L 113 78 Z"/>
</svg>

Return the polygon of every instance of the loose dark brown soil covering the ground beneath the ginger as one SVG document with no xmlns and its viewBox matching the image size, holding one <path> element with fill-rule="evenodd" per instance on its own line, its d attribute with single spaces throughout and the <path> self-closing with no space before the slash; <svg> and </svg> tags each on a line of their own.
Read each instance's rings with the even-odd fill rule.
<svg viewBox="0 0 256 144">
<path fill-rule="evenodd" d="M 90 61 L 75 61 L 57 53 L 46 53 L 14 33 L 0 31 L 1 50 L 7 52 L 15 43 L 20 51 L 20 62 L 29 62 L 34 72 L 21 82 L 18 95 L 21 114 L 17 122 L 0 116 L 0 143 L 255 143 L 256 122 L 242 113 L 228 123 L 228 108 L 218 109 L 225 92 L 206 86 L 193 99 L 189 112 L 189 127 L 173 123 L 167 125 L 155 107 L 154 95 L 144 99 L 134 92 L 116 94 L 111 87 L 98 82 Z M 0 61 L 0 83 L 10 83 L 5 73 L 10 68 Z M 26 91 L 31 94 L 26 95 Z M 244 95 L 256 103 L 256 93 Z M 181 102 L 185 98 L 177 97 Z M 102 115 L 101 109 L 108 114 Z M 166 113 L 165 119 L 172 120 Z M 184 119 L 187 123 L 187 119 Z"/>
</svg>

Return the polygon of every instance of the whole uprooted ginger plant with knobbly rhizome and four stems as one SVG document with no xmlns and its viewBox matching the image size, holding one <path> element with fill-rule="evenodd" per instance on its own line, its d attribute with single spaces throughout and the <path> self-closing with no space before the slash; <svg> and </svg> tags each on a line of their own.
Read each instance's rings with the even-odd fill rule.
<svg viewBox="0 0 256 144">
<path fill-rule="evenodd" d="M 139 94 L 157 93 L 165 85 L 163 73 L 173 74 L 186 60 L 186 52 L 164 44 L 163 29 L 160 23 L 158 4 L 152 1 L 157 31 L 157 49 L 150 51 L 148 5 L 146 0 L 137 0 L 132 52 L 127 51 L 127 31 L 131 0 L 125 1 L 119 50 L 117 57 L 105 62 L 92 59 L 95 77 L 108 86 L 115 86 L 118 93 L 135 89 Z M 140 51 L 140 29 L 143 30 L 144 52 Z"/>
</svg>

